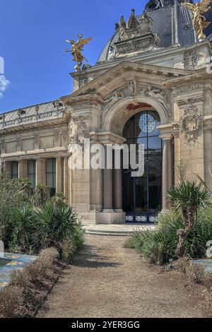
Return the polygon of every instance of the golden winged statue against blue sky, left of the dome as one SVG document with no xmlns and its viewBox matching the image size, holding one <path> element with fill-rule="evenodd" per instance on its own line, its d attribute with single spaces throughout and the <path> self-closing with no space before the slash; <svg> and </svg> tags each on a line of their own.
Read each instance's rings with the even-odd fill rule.
<svg viewBox="0 0 212 332">
<path fill-rule="evenodd" d="M 73 61 L 75 61 L 77 64 L 75 66 L 76 71 L 81 70 L 81 66 L 83 64 L 83 60 L 85 59 L 88 61 L 84 56 L 83 56 L 83 46 L 88 44 L 92 38 L 86 38 L 83 39 L 83 35 L 78 35 L 78 40 L 75 42 L 74 40 L 66 40 L 66 42 L 69 42 L 71 44 L 71 49 L 69 49 L 66 52 L 71 52 L 73 55 Z"/>
</svg>

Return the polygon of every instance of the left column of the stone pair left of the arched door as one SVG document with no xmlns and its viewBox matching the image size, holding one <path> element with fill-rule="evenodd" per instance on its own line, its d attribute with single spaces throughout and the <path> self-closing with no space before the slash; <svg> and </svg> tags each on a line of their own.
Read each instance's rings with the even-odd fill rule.
<svg viewBox="0 0 212 332">
<path fill-rule="evenodd" d="M 109 145 L 112 149 L 112 145 Z M 107 169 L 109 160 L 107 155 L 107 146 L 105 146 L 105 170 L 103 170 L 103 212 L 114 212 L 112 209 L 112 165 Z"/>
</svg>

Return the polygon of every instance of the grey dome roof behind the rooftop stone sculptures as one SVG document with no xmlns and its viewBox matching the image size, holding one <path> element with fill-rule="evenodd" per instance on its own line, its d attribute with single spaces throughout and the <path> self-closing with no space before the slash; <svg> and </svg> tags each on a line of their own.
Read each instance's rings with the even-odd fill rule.
<svg viewBox="0 0 212 332">
<path fill-rule="evenodd" d="M 158 0 L 152 0 L 157 1 Z M 151 1 L 151 3 L 152 3 Z M 165 0 L 166 4 L 163 7 L 150 9 L 146 6 L 146 13 L 153 18 L 153 32 L 157 33 L 160 37 L 160 44 L 158 47 L 170 47 L 172 45 L 187 46 L 197 42 L 196 32 L 192 24 L 192 13 L 179 4 L 182 0 Z M 192 2 L 192 1 L 190 1 Z M 161 2 L 160 2 L 161 4 Z M 212 10 L 204 14 L 211 25 L 204 30 L 204 33 L 209 36 L 212 34 Z M 141 16 L 136 16 L 141 18 Z M 119 28 L 112 38 L 107 42 L 98 63 L 102 61 L 110 61 L 114 59 L 114 42 L 119 40 Z"/>
</svg>

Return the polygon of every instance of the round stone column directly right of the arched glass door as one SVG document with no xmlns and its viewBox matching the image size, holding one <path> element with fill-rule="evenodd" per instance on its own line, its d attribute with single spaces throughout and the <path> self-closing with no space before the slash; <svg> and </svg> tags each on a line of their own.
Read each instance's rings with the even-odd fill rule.
<svg viewBox="0 0 212 332">
<path fill-rule="evenodd" d="M 172 136 L 162 136 L 163 139 L 163 211 L 167 211 L 170 206 L 167 201 L 166 192 L 173 185 L 173 153 Z"/>
</svg>

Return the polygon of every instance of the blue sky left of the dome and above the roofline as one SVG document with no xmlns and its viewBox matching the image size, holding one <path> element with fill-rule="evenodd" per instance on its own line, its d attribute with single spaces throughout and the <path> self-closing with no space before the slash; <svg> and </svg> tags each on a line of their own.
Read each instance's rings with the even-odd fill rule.
<svg viewBox="0 0 212 332">
<path fill-rule="evenodd" d="M 93 37 L 85 56 L 95 64 L 121 15 L 143 11 L 147 0 L 0 0 L 0 112 L 71 93 L 69 44 Z"/>
</svg>

